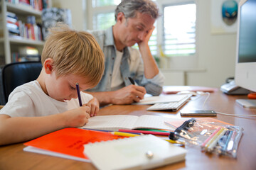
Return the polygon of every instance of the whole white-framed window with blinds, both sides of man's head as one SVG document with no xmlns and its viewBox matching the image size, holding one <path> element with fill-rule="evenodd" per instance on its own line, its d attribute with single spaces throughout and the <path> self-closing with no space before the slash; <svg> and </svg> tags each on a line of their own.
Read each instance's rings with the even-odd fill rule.
<svg viewBox="0 0 256 170">
<path fill-rule="evenodd" d="M 101 30 L 114 25 L 114 9 L 120 2 L 90 0 L 88 18 L 91 21 L 87 29 Z M 175 58 L 186 56 L 192 60 L 191 56 L 196 54 L 196 4 L 193 0 L 156 0 L 156 4 L 161 17 L 156 20 L 156 28 L 149 40 L 151 54 L 156 59 L 164 55 Z"/>
</svg>

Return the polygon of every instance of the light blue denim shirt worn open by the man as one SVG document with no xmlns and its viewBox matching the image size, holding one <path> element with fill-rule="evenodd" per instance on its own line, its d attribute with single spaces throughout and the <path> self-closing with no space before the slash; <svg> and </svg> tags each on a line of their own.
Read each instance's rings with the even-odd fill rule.
<svg viewBox="0 0 256 170">
<path fill-rule="evenodd" d="M 100 83 L 87 91 L 111 91 L 112 72 L 116 58 L 112 27 L 107 30 L 92 30 L 89 32 L 94 35 L 105 55 L 105 71 Z M 132 47 L 124 47 L 120 71 L 124 86 L 131 84 L 128 79 L 128 77 L 131 77 L 139 86 L 145 87 L 147 94 L 154 96 L 161 94 L 162 86 L 164 85 L 164 75 L 159 71 L 159 74 L 153 77 L 153 79 L 146 79 L 144 77 L 144 64 L 139 50 Z"/>
</svg>

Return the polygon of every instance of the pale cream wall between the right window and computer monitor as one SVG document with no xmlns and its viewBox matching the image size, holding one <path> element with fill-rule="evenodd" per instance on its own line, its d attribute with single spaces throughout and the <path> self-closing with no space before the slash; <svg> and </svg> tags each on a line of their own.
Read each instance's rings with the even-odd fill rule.
<svg viewBox="0 0 256 170">
<path fill-rule="evenodd" d="M 206 72 L 187 74 L 188 85 L 220 87 L 235 75 L 236 34 L 210 33 L 210 0 L 198 1 L 198 67 Z"/>
</svg>

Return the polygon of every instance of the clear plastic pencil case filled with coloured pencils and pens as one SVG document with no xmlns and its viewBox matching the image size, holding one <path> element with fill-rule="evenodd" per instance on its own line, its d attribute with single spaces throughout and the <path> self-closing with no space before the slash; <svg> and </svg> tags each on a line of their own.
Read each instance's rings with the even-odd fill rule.
<svg viewBox="0 0 256 170">
<path fill-rule="evenodd" d="M 242 132 L 239 126 L 191 118 L 170 132 L 169 138 L 200 147 L 203 152 L 236 158 Z"/>
</svg>

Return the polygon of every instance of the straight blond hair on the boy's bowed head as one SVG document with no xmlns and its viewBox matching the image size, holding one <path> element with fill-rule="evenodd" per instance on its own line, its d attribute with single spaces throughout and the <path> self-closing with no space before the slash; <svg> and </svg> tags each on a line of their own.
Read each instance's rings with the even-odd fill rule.
<svg viewBox="0 0 256 170">
<path fill-rule="evenodd" d="M 71 30 L 63 23 L 50 28 L 42 64 L 47 58 L 53 59 L 57 77 L 68 74 L 86 77 L 86 83 L 92 87 L 99 83 L 104 72 L 104 54 L 95 38 L 85 31 Z"/>
</svg>

